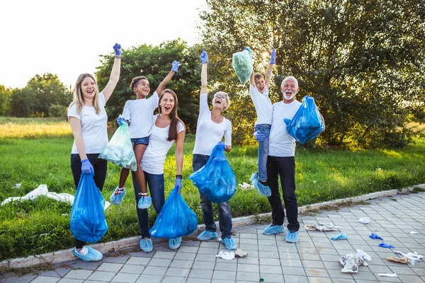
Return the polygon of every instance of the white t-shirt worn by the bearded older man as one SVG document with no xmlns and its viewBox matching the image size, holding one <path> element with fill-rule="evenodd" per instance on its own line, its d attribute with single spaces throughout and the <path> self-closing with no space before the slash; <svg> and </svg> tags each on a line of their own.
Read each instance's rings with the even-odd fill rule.
<svg viewBox="0 0 425 283">
<path fill-rule="evenodd" d="M 279 101 L 273 104 L 273 122 L 268 137 L 268 155 L 288 157 L 295 156 L 295 139 L 286 131 L 283 119 L 292 120 L 301 103 L 294 100 L 291 103 Z"/>
</svg>

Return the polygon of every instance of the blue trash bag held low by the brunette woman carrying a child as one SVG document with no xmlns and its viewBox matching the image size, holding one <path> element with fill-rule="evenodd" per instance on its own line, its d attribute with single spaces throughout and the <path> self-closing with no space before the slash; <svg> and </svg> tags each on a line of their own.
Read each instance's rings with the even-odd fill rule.
<svg viewBox="0 0 425 283">
<path fill-rule="evenodd" d="M 179 238 L 187 236 L 198 228 L 198 217 L 183 200 L 179 189 L 174 187 L 164 206 L 149 230 L 153 238 Z"/>
</svg>

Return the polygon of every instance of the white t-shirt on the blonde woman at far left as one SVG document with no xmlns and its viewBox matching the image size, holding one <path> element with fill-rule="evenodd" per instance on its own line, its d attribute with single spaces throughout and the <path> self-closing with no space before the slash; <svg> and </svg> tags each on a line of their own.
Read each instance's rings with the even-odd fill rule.
<svg viewBox="0 0 425 283">
<path fill-rule="evenodd" d="M 99 93 L 100 114 L 96 114 L 94 107 L 83 106 L 81 112 L 77 112 L 76 103 L 71 103 L 68 109 L 69 117 L 77 117 L 81 121 L 81 134 L 84 141 L 84 149 L 86 154 L 100 154 L 108 145 L 108 132 L 106 125 L 108 124 L 108 115 L 105 111 L 105 96 Z M 77 144 L 72 145 L 72 154 L 78 154 Z"/>
</svg>

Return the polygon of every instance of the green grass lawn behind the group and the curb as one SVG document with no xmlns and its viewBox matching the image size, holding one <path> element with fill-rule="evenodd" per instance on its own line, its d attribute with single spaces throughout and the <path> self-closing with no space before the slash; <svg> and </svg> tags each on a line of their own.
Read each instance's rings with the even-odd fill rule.
<svg viewBox="0 0 425 283">
<path fill-rule="evenodd" d="M 113 132 L 113 130 L 112 130 Z M 52 192 L 75 194 L 69 157 L 72 132 L 67 122 L 47 119 L 0 118 L 0 202 L 23 196 L 40 184 Z M 181 194 L 202 222 L 198 190 L 188 180 L 192 173 L 193 135 L 185 143 Z M 165 164 L 166 195 L 174 187 L 174 147 Z M 346 151 L 341 149 L 296 150 L 296 184 L 300 205 L 379 190 L 399 189 L 425 183 L 425 141 L 416 140 L 404 149 Z M 227 154 L 238 183 L 249 183 L 256 171 L 256 146 L 233 146 Z M 120 168 L 109 163 L 103 196 L 106 200 L 118 185 Z M 13 188 L 17 183 L 21 187 Z M 139 234 L 131 175 L 127 195 L 118 207 L 106 210 L 108 233 L 101 241 Z M 266 197 L 256 190 L 237 190 L 229 201 L 232 216 L 269 212 Z M 45 197 L 0 207 L 0 260 L 71 248 L 71 206 Z M 215 210 L 217 212 L 217 209 Z M 153 207 L 149 219 L 157 215 Z"/>
</svg>

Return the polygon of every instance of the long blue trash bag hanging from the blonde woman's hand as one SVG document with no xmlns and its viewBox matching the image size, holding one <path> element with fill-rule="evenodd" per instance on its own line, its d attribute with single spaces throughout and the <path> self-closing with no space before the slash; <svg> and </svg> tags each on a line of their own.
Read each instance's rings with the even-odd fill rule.
<svg viewBox="0 0 425 283">
<path fill-rule="evenodd" d="M 108 231 L 94 174 L 81 174 L 71 210 L 71 232 L 79 241 L 96 243 Z"/>
</svg>

